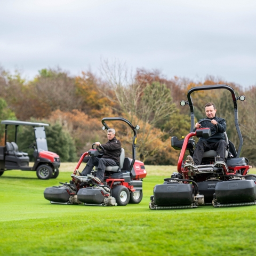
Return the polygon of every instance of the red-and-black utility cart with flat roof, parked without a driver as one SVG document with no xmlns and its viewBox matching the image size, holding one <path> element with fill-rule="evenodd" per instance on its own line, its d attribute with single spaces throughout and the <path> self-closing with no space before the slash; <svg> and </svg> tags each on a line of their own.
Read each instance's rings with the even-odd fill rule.
<svg viewBox="0 0 256 256">
<path fill-rule="evenodd" d="M 7 170 L 22 170 L 36 171 L 38 179 L 43 180 L 58 177 L 60 157 L 48 151 L 44 130 L 44 126 L 49 126 L 49 124 L 11 120 L 2 121 L 1 124 L 5 124 L 5 146 L 0 147 L 0 175 Z M 7 129 L 9 125 L 15 125 L 15 139 L 12 142 L 7 141 Z M 17 145 L 17 131 L 19 125 L 33 126 L 36 142 L 29 145 L 29 148 L 34 148 L 33 156 L 35 163 L 33 167 L 29 166 L 28 154 L 19 151 Z"/>
</svg>

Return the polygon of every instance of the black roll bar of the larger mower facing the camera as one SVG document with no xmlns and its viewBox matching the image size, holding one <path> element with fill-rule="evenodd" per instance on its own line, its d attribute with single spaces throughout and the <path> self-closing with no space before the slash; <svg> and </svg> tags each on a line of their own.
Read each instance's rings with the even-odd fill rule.
<svg viewBox="0 0 256 256">
<path fill-rule="evenodd" d="M 241 130 L 240 130 L 239 124 L 238 124 L 237 99 L 239 99 L 239 97 L 236 97 L 234 89 L 232 87 L 230 87 L 229 85 L 218 84 L 218 85 L 198 86 L 198 87 L 193 87 L 188 91 L 188 102 L 187 103 L 190 108 L 190 117 L 191 117 L 190 132 L 194 131 L 194 126 L 195 126 L 194 106 L 193 106 L 193 101 L 191 99 L 190 94 L 195 91 L 215 90 L 215 89 L 226 89 L 231 92 L 231 96 L 232 96 L 233 104 L 234 104 L 235 126 L 236 126 L 236 131 L 238 134 L 238 138 L 239 138 L 239 146 L 238 146 L 238 150 L 237 150 L 237 157 L 239 157 L 241 155 L 242 146 L 243 146 L 243 137 L 242 137 L 242 133 L 241 133 Z"/>
</svg>

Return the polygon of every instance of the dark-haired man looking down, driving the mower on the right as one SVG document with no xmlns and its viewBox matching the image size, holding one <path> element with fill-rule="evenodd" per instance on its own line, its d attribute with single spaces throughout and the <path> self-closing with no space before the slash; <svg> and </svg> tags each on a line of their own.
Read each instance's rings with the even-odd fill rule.
<svg viewBox="0 0 256 256">
<path fill-rule="evenodd" d="M 210 119 L 210 122 L 202 122 L 203 127 L 211 127 L 214 125 L 218 125 L 218 132 L 208 139 L 200 138 L 196 144 L 195 153 L 193 158 L 191 156 L 187 156 L 186 163 L 193 163 L 195 165 L 200 165 L 202 162 L 203 154 L 208 150 L 217 151 L 217 155 L 220 156 L 220 161 L 225 161 L 225 154 L 228 148 L 228 144 L 225 140 L 225 135 L 223 134 L 226 131 L 226 121 L 223 118 L 216 116 L 217 109 L 215 108 L 214 103 L 206 103 L 205 105 L 205 114 L 206 118 Z M 204 119 L 199 120 L 202 121 Z M 200 128 L 201 124 L 196 123 L 194 131 Z M 215 127 L 212 129 L 212 133 L 215 132 Z"/>
</svg>

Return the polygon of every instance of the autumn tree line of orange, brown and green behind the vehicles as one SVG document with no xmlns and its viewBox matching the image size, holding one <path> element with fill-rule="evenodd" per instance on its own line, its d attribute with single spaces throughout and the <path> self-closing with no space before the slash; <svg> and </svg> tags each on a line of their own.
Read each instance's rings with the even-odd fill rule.
<svg viewBox="0 0 256 256">
<path fill-rule="evenodd" d="M 60 68 L 49 68 L 39 70 L 28 81 L 18 71 L 11 74 L 0 68 L 0 119 L 49 123 L 45 129 L 49 150 L 59 154 L 62 162 L 72 162 L 90 149 L 93 142 L 106 142 L 106 131 L 101 130 L 103 117 L 121 116 L 140 126 L 138 159 L 147 164 L 175 165 L 180 151 L 171 147 L 171 137 L 181 139 L 190 130 L 189 108 L 181 107 L 180 101 L 187 100 L 191 87 L 213 84 L 228 84 L 237 95 L 246 96 L 244 102 L 238 101 L 239 124 L 244 135 L 242 156 L 256 165 L 256 86 L 244 89 L 212 76 L 201 82 L 180 77 L 167 79 L 158 70 L 137 69 L 132 73 L 122 63 L 103 61 L 98 75 L 88 70 L 72 76 Z M 230 92 L 207 90 L 191 96 L 196 121 L 205 117 L 205 103 L 215 103 L 217 116 L 227 121 L 228 138 L 237 147 Z M 108 125 L 116 129 L 126 156 L 131 156 L 130 128 L 117 122 Z M 29 127 L 19 129 L 19 149 L 32 157 L 28 145 L 34 140 L 33 131 Z M 12 136 L 10 132 L 9 140 Z M 0 140 L 3 146 L 4 125 L 0 127 Z"/>
</svg>

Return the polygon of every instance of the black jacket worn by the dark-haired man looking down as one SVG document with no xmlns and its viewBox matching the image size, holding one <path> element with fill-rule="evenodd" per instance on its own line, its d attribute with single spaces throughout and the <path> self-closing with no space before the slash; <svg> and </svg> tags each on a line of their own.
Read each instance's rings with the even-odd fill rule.
<svg viewBox="0 0 256 256">
<path fill-rule="evenodd" d="M 199 140 L 204 140 L 204 141 L 207 141 L 209 143 L 218 142 L 220 140 L 226 140 L 225 135 L 223 134 L 223 132 L 225 132 L 226 128 L 227 128 L 226 120 L 224 118 L 217 117 L 217 116 L 215 116 L 213 118 L 206 117 L 206 118 L 200 119 L 199 122 L 204 120 L 204 119 L 210 119 L 210 120 L 214 119 L 214 120 L 216 120 L 218 122 L 218 124 L 217 124 L 218 125 L 218 132 L 215 133 L 213 136 L 209 137 L 208 139 L 200 138 Z M 210 122 L 202 122 L 201 126 L 203 126 L 203 127 L 212 127 L 214 125 Z M 194 129 L 194 131 L 196 131 L 196 128 Z M 211 132 L 214 133 L 215 131 L 216 131 L 216 128 L 214 127 Z"/>
</svg>

